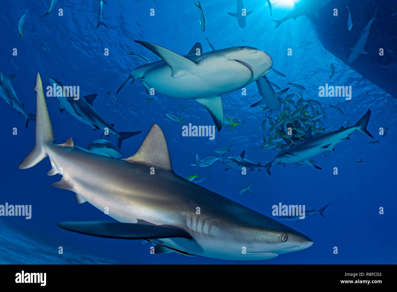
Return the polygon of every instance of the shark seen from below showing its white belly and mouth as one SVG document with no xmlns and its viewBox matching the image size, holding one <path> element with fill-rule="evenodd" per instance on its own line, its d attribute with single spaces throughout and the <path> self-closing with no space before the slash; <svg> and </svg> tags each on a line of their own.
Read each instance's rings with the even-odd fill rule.
<svg viewBox="0 0 397 292">
<path fill-rule="evenodd" d="M 163 60 L 133 69 L 129 79 L 142 81 L 149 94 L 151 88 L 160 94 L 182 99 L 195 99 L 206 107 L 218 131 L 224 116 L 221 95 L 247 86 L 270 71 L 272 58 L 265 52 L 250 47 L 233 47 L 202 52 L 196 43 L 187 56 L 178 55 L 166 48 L 137 41 Z"/>
</svg>

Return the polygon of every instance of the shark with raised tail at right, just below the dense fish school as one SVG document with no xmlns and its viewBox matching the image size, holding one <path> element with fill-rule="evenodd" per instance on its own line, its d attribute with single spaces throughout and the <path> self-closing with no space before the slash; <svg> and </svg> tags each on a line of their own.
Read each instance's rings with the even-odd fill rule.
<svg viewBox="0 0 397 292">
<path fill-rule="evenodd" d="M 312 127 L 309 127 L 304 135 L 304 139 L 295 144 L 294 146 L 287 149 L 287 151 L 280 153 L 276 158 L 266 164 L 266 171 L 270 174 L 270 167 L 275 163 L 299 163 L 304 162 L 307 165 L 321 169 L 320 167 L 314 165 L 310 159 L 318 154 L 326 151 L 331 151 L 336 144 L 343 141 L 343 139 L 349 139 L 349 135 L 354 131 L 374 138 L 366 129 L 368 121 L 370 119 L 371 111 L 368 109 L 365 115 L 351 127 L 343 128 L 341 127 L 337 131 L 328 132 L 325 134 L 316 134 L 312 136 Z"/>
</svg>

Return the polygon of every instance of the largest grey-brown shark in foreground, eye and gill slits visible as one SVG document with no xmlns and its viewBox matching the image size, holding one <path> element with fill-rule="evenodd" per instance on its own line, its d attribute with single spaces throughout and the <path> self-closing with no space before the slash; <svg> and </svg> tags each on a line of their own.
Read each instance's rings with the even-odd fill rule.
<svg viewBox="0 0 397 292">
<path fill-rule="evenodd" d="M 62 222 L 60 227 L 109 238 L 145 239 L 157 244 L 155 250 L 160 252 L 231 260 L 270 259 L 313 244 L 280 222 L 176 175 L 157 125 L 137 153 L 125 159 L 75 150 L 71 138 L 56 145 L 39 74 L 35 90 L 36 145 L 19 168 L 33 167 L 48 156 L 52 165 L 48 175 L 63 168 L 62 179 L 53 186 L 75 192 L 80 203 L 87 201 L 101 211 L 108 207 L 109 215 L 119 221 Z"/>
</svg>

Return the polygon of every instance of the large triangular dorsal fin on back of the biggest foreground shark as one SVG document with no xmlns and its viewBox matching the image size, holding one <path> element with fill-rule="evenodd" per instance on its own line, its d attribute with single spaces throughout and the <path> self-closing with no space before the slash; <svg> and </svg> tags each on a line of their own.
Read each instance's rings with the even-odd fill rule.
<svg viewBox="0 0 397 292">
<path fill-rule="evenodd" d="M 122 160 L 157 166 L 172 171 L 166 137 L 156 124 L 150 129 L 137 153 Z"/>
</svg>

